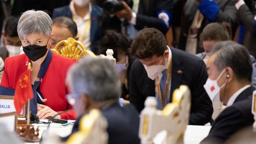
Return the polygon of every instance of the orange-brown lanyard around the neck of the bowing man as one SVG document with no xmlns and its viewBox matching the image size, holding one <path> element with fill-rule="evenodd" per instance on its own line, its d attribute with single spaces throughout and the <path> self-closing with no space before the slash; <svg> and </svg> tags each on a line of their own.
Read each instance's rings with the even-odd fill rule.
<svg viewBox="0 0 256 144">
<path fill-rule="evenodd" d="M 167 74 L 167 79 L 166 79 L 166 82 L 165 82 L 165 91 L 163 92 L 163 97 L 162 97 L 162 94 L 161 94 L 159 78 L 156 77 L 156 79 L 155 79 L 157 90 L 158 90 L 158 96 L 159 96 L 159 98 L 161 100 L 161 104 L 162 104 L 161 105 L 161 110 L 164 107 L 164 102 L 165 102 L 166 94 L 167 94 L 167 91 L 168 91 L 169 79 L 170 79 L 171 73 L 172 73 L 172 65 L 173 65 L 173 59 L 171 58 L 171 62 L 170 62 L 169 67 L 168 67 L 168 74 Z"/>
</svg>

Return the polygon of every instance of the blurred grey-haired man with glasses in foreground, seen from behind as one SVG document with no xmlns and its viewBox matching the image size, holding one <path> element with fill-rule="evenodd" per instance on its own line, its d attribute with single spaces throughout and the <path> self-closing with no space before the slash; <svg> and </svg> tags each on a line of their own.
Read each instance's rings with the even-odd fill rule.
<svg viewBox="0 0 256 144">
<path fill-rule="evenodd" d="M 73 107 L 78 119 L 72 133 L 79 131 L 81 118 L 99 109 L 108 122 L 108 144 L 139 144 L 139 113 L 134 105 L 121 107 L 121 82 L 115 65 L 108 59 L 84 57 L 68 73 Z"/>
</svg>

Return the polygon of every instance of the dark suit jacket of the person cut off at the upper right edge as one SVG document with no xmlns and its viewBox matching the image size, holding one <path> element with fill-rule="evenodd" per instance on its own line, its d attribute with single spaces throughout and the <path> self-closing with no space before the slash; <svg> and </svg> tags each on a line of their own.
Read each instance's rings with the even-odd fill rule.
<svg viewBox="0 0 256 144">
<path fill-rule="evenodd" d="M 237 12 L 237 20 L 246 28 L 243 45 L 249 50 L 250 54 L 256 57 L 256 26 L 254 16 L 247 5 L 242 5 Z"/>
</svg>

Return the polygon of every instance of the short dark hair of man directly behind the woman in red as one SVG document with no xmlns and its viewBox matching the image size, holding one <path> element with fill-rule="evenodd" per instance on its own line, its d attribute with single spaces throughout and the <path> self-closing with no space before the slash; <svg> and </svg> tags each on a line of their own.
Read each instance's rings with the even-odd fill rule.
<svg viewBox="0 0 256 144">
<path fill-rule="evenodd" d="M 77 26 L 76 22 L 68 17 L 57 17 L 53 19 L 53 26 L 58 26 L 62 28 L 69 29 L 70 33 L 73 35 L 73 38 L 77 35 Z"/>
</svg>

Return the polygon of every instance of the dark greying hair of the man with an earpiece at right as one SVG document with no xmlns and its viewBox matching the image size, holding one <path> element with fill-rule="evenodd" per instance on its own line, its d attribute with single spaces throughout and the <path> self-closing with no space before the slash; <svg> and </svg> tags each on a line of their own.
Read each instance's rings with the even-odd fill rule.
<svg viewBox="0 0 256 144">
<path fill-rule="evenodd" d="M 245 46 L 233 41 L 220 41 L 214 44 L 210 55 L 216 54 L 214 65 L 219 71 L 231 67 L 237 79 L 251 81 L 252 62 Z"/>
</svg>

